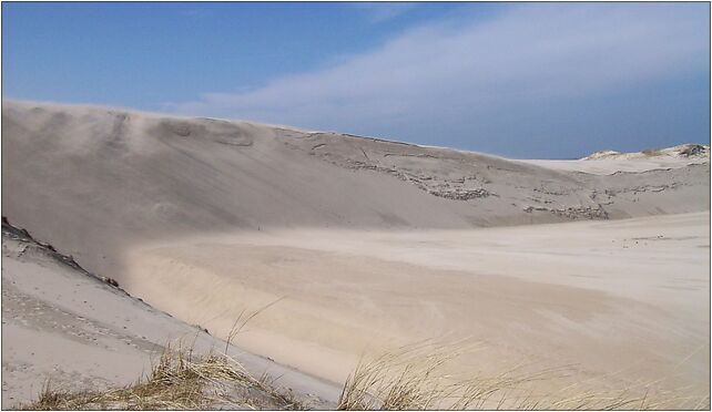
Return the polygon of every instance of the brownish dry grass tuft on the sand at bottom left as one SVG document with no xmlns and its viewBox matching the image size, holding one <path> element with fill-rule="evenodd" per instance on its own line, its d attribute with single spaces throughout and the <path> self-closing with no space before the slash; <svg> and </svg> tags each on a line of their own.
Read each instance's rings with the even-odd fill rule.
<svg viewBox="0 0 712 412">
<path fill-rule="evenodd" d="M 283 393 L 254 379 L 224 354 L 195 356 L 192 350 L 162 353 L 151 374 L 134 384 L 106 391 L 71 392 L 44 385 L 39 399 L 22 410 L 196 410 L 303 409 Z"/>
</svg>

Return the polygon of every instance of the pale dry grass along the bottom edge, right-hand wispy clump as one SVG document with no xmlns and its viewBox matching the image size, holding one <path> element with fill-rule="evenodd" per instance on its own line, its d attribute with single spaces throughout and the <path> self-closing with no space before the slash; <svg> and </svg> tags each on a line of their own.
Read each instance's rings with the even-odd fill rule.
<svg viewBox="0 0 712 412">
<path fill-rule="evenodd" d="M 427 350 L 427 354 L 421 352 Z M 572 367 L 523 372 L 519 365 L 495 377 L 452 377 L 443 367 L 461 351 L 451 348 L 405 348 L 362 360 L 346 380 L 338 410 L 709 410 L 710 395 L 684 390 L 657 391 L 648 382 L 622 390 L 593 390 L 586 381 L 563 385 Z M 603 378 L 604 379 L 604 378 Z M 546 381 L 553 391 L 536 390 Z M 599 387 L 600 388 L 600 387 Z"/>
</svg>

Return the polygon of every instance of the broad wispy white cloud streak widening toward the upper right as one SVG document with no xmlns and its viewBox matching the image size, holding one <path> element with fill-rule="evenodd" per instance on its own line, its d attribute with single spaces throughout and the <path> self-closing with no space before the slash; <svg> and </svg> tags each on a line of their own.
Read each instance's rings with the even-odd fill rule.
<svg viewBox="0 0 712 412">
<path fill-rule="evenodd" d="M 709 70 L 708 11 L 703 3 L 526 4 L 486 21 L 431 22 L 326 69 L 167 109 L 410 138 L 418 138 L 413 124 L 466 131 L 502 111 Z"/>
</svg>

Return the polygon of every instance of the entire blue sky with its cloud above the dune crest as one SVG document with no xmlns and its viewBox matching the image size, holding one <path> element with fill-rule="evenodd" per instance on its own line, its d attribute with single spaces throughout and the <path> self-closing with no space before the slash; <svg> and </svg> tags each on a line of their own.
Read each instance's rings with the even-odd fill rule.
<svg viewBox="0 0 712 412">
<path fill-rule="evenodd" d="M 710 142 L 709 3 L 2 3 L 3 99 L 520 158 Z"/>
</svg>

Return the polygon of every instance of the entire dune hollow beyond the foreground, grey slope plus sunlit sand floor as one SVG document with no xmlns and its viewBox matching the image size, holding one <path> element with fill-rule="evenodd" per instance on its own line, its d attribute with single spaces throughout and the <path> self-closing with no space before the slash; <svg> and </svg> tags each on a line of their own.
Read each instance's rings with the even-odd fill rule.
<svg viewBox="0 0 712 412">
<path fill-rule="evenodd" d="M 523 162 L 18 102 L 2 126 L 10 222 L 218 336 L 281 299 L 241 344 L 286 364 L 339 381 L 362 353 L 467 338 L 485 349 L 460 371 L 709 390 L 709 157 Z"/>
</svg>

